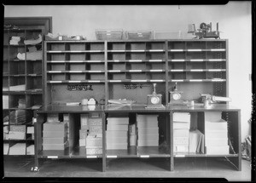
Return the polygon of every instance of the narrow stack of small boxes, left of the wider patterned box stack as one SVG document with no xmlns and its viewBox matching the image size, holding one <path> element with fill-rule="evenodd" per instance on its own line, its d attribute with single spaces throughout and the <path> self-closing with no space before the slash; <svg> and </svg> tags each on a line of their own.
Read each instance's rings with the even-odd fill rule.
<svg viewBox="0 0 256 183">
<path fill-rule="evenodd" d="M 81 114 L 80 129 L 79 129 L 79 146 L 86 146 L 86 137 L 89 131 L 89 117 L 88 114 Z"/>
</svg>

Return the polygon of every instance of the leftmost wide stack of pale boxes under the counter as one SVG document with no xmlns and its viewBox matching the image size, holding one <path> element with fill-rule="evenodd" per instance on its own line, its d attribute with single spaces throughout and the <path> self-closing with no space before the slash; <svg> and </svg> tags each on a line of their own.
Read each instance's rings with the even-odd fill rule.
<svg viewBox="0 0 256 183">
<path fill-rule="evenodd" d="M 43 124 L 43 150 L 64 150 L 68 146 L 67 123 Z"/>
</svg>

